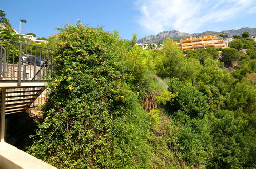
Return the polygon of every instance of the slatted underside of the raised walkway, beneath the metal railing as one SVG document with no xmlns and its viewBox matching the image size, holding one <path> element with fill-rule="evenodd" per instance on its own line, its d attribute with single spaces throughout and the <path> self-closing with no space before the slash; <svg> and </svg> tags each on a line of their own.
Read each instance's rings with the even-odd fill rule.
<svg viewBox="0 0 256 169">
<path fill-rule="evenodd" d="M 6 87 L 5 114 L 25 112 L 45 89 L 45 86 Z"/>
</svg>

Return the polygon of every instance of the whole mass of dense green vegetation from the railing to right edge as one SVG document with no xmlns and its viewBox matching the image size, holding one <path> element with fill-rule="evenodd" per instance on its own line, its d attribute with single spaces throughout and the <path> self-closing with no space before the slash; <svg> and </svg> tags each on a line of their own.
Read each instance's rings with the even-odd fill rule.
<svg viewBox="0 0 256 169">
<path fill-rule="evenodd" d="M 255 167 L 255 60 L 223 49 L 241 60 L 229 73 L 214 48 L 133 37 L 78 23 L 49 38 L 56 69 L 29 152 L 60 168 Z"/>
</svg>

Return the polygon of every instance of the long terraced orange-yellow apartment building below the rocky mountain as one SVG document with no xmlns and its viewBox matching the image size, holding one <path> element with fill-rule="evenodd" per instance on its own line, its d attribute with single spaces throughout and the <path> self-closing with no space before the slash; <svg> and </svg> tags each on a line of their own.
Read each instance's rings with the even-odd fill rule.
<svg viewBox="0 0 256 169">
<path fill-rule="evenodd" d="M 179 45 L 182 50 L 189 49 L 202 49 L 207 47 L 213 48 L 227 48 L 228 44 L 226 41 L 222 39 L 222 37 L 218 37 L 215 35 L 204 36 L 204 37 L 188 37 L 184 40 L 181 39 L 180 43 L 174 42 L 174 44 Z"/>
</svg>

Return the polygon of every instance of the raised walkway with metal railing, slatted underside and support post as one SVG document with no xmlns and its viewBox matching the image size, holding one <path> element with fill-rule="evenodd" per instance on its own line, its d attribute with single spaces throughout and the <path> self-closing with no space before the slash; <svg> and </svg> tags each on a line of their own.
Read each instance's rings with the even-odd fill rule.
<svg viewBox="0 0 256 169">
<path fill-rule="evenodd" d="M 6 115 L 45 103 L 53 54 L 53 49 L 0 38 L 0 143 L 5 142 Z"/>
</svg>

